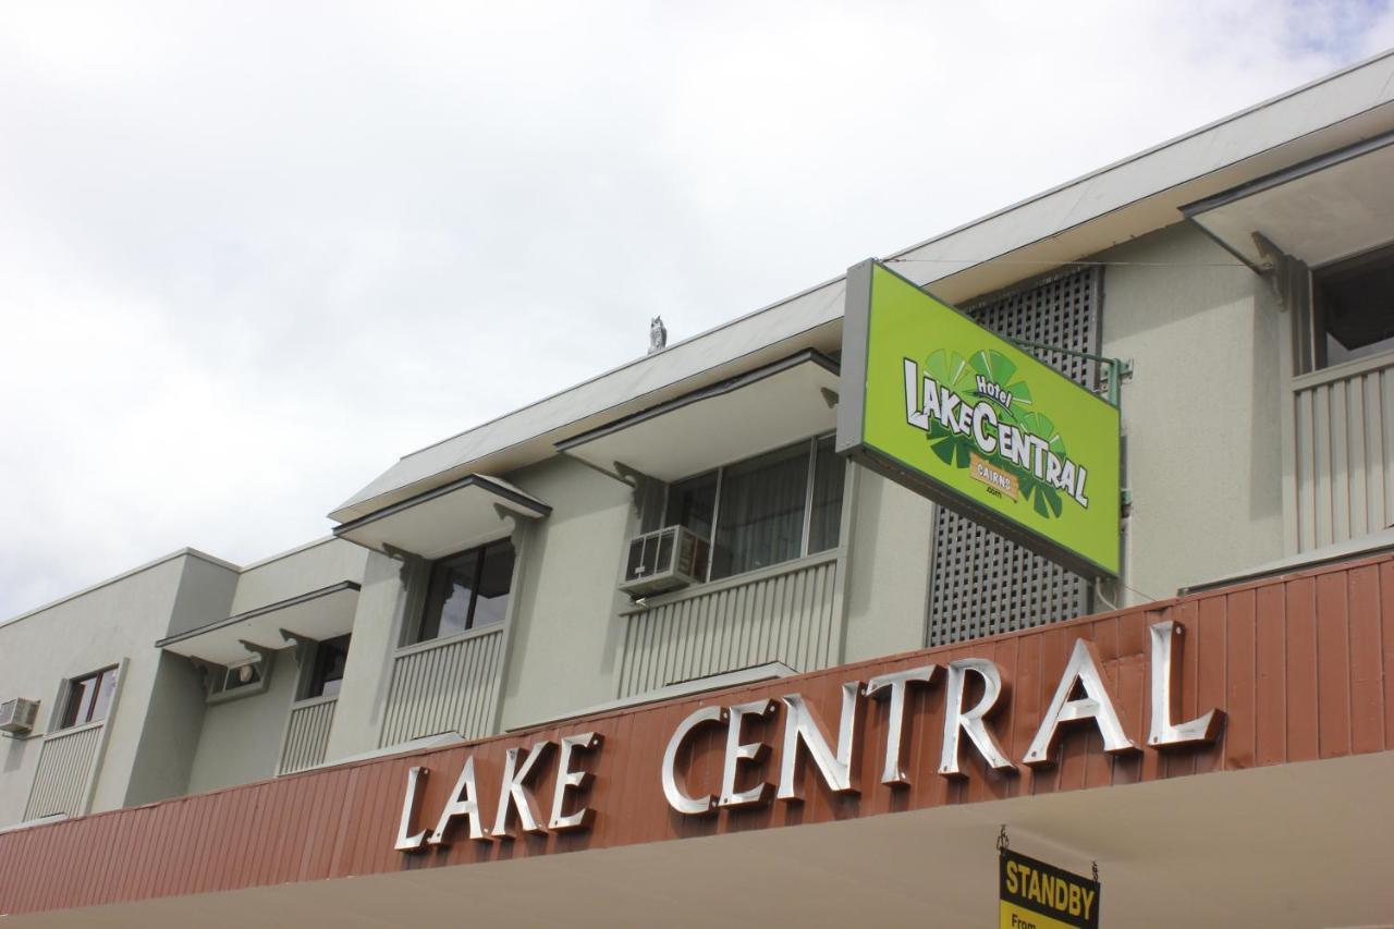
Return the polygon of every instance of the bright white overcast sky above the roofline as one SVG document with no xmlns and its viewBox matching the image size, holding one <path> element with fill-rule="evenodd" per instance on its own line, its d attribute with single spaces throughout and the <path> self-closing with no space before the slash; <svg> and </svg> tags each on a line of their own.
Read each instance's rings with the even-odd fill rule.
<svg viewBox="0 0 1394 929">
<path fill-rule="evenodd" d="M 1388 4 L 0 7 L 0 618 L 1394 45 Z"/>
</svg>

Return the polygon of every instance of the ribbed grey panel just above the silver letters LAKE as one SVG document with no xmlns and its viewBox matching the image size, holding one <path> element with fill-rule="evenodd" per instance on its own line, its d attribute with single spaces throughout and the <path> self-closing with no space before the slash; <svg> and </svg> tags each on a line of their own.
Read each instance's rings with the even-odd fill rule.
<svg viewBox="0 0 1394 929">
<path fill-rule="evenodd" d="M 503 629 L 397 656 L 379 745 L 424 735 L 491 735 L 499 697 Z"/>
</svg>

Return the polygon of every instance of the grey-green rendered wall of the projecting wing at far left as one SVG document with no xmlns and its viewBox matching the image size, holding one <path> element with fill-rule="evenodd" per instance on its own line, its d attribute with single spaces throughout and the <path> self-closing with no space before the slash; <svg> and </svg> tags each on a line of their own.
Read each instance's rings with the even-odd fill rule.
<svg viewBox="0 0 1394 929">
<path fill-rule="evenodd" d="M 216 610 L 219 591 L 230 591 L 226 575 L 233 573 L 216 559 L 178 552 L 0 626 L 0 699 L 40 700 L 35 738 L 0 741 L 0 824 L 24 815 L 39 759 L 38 735 L 53 721 L 60 682 L 123 658 L 130 664 L 107 717 L 110 734 L 92 809 L 125 802 L 160 667 L 155 642 L 170 629 L 181 584 L 191 577 L 187 590 L 197 587 Z M 178 780 L 176 773 L 164 787 L 178 787 Z"/>
</svg>

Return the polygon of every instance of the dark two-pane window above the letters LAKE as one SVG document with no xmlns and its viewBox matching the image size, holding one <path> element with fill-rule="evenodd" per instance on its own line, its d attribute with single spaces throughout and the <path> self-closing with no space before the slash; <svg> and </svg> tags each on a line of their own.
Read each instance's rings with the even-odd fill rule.
<svg viewBox="0 0 1394 929">
<path fill-rule="evenodd" d="M 512 582 L 513 543 L 507 538 L 442 558 L 431 566 L 425 610 L 411 642 L 503 622 Z"/>
</svg>

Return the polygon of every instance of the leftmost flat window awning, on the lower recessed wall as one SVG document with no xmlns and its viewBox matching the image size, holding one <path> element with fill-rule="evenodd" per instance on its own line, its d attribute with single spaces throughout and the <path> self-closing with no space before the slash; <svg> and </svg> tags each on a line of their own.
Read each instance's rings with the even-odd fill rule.
<svg viewBox="0 0 1394 929">
<path fill-rule="evenodd" d="M 282 629 L 316 642 L 351 632 L 357 607 L 358 584 L 343 580 L 160 639 L 155 646 L 213 664 L 237 664 L 254 654 L 244 643 L 272 650 L 287 647 Z"/>
</svg>

